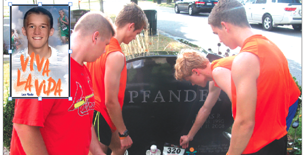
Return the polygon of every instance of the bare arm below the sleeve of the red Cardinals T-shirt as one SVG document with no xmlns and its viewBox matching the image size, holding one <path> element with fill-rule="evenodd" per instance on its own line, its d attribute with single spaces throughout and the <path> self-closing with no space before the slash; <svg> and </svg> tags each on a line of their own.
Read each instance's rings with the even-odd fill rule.
<svg viewBox="0 0 306 155">
<path fill-rule="evenodd" d="M 14 123 L 14 127 L 26 154 L 48 154 L 39 126 Z"/>
</svg>

